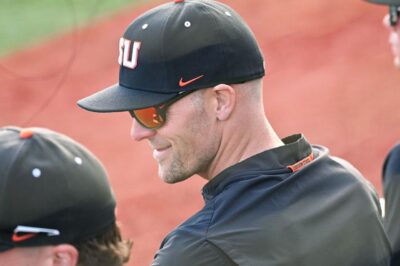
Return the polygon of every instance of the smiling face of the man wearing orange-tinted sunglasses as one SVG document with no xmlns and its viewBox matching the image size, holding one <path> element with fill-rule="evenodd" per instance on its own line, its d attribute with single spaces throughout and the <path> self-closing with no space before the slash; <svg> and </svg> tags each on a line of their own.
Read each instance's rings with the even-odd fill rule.
<svg viewBox="0 0 400 266">
<path fill-rule="evenodd" d="M 194 92 L 167 112 L 166 123 L 157 130 L 133 121 L 132 137 L 147 139 L 158 162 L 158 172 L 166 183 L 183 181 L 209 170 L 219 146 L 215 118 L 210 112 L 207 91 Z"/>
</svg>

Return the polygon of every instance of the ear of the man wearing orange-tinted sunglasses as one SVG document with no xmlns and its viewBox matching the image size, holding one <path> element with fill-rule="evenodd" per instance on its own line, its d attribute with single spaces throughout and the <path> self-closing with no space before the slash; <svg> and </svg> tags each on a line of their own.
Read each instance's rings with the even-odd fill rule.
<svg viewBox="0 0 400 266">
<path fill-rule="evenodd" d="M 218 120 L 226 120 L 232 114 L 236 104 L 236 91 L 229 85 L 219 84 L 213 88 L 217 99 L 216 115 Z"/>
</svg>

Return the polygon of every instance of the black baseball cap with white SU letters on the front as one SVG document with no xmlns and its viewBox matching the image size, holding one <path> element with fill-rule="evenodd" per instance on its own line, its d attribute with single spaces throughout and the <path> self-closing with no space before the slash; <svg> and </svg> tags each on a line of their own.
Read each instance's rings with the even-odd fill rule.
<svg viewBox="0 0 400 266">
<path fill-rule="evenodd" d="M 176 0 L 149 10 L 128 26 L 119 48 L 119 83 L 81 99 L 80 107 L 141 109 L 184 91 L 242 83 L 265 72 L 248 25 L 212 0 Z"/>
</svg>

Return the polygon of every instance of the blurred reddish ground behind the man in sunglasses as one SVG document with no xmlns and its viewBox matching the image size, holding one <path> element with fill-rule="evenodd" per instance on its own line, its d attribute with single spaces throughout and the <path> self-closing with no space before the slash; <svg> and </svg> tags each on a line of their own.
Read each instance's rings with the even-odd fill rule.
<svg viewBox="0 0 400 266">
<path fill-rule="evenodd" d="M 266 113 L 278 134 L 303 132 L 328 146 L 381 193 L 383 159 L 400 138 L 400 71 L 381 24 L 386 8 L 358 0 L 224 2 L 264 51 Z M 164 184 L 148 145 L 130 139 L 129 115 L 86 112 L 76 101 L 117 81 L 119 37 L 155 4 L 0 61 L 0 125 L 61 131 L 103 161 L 123 232 L 135 242 L 129 265 L 150 264 L 162 238 L 202 206 L 205 182 Z"/>
</svg>

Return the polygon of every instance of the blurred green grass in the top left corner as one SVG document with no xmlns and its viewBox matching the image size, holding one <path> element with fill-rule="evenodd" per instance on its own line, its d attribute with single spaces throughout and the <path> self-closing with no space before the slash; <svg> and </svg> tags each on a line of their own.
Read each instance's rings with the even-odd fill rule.
<svg viewBox="0 0 400 266">
<path fill-rule="evenodd" d="M 0 57 L 152 0 L 0 0 Z"/>
</svg>

